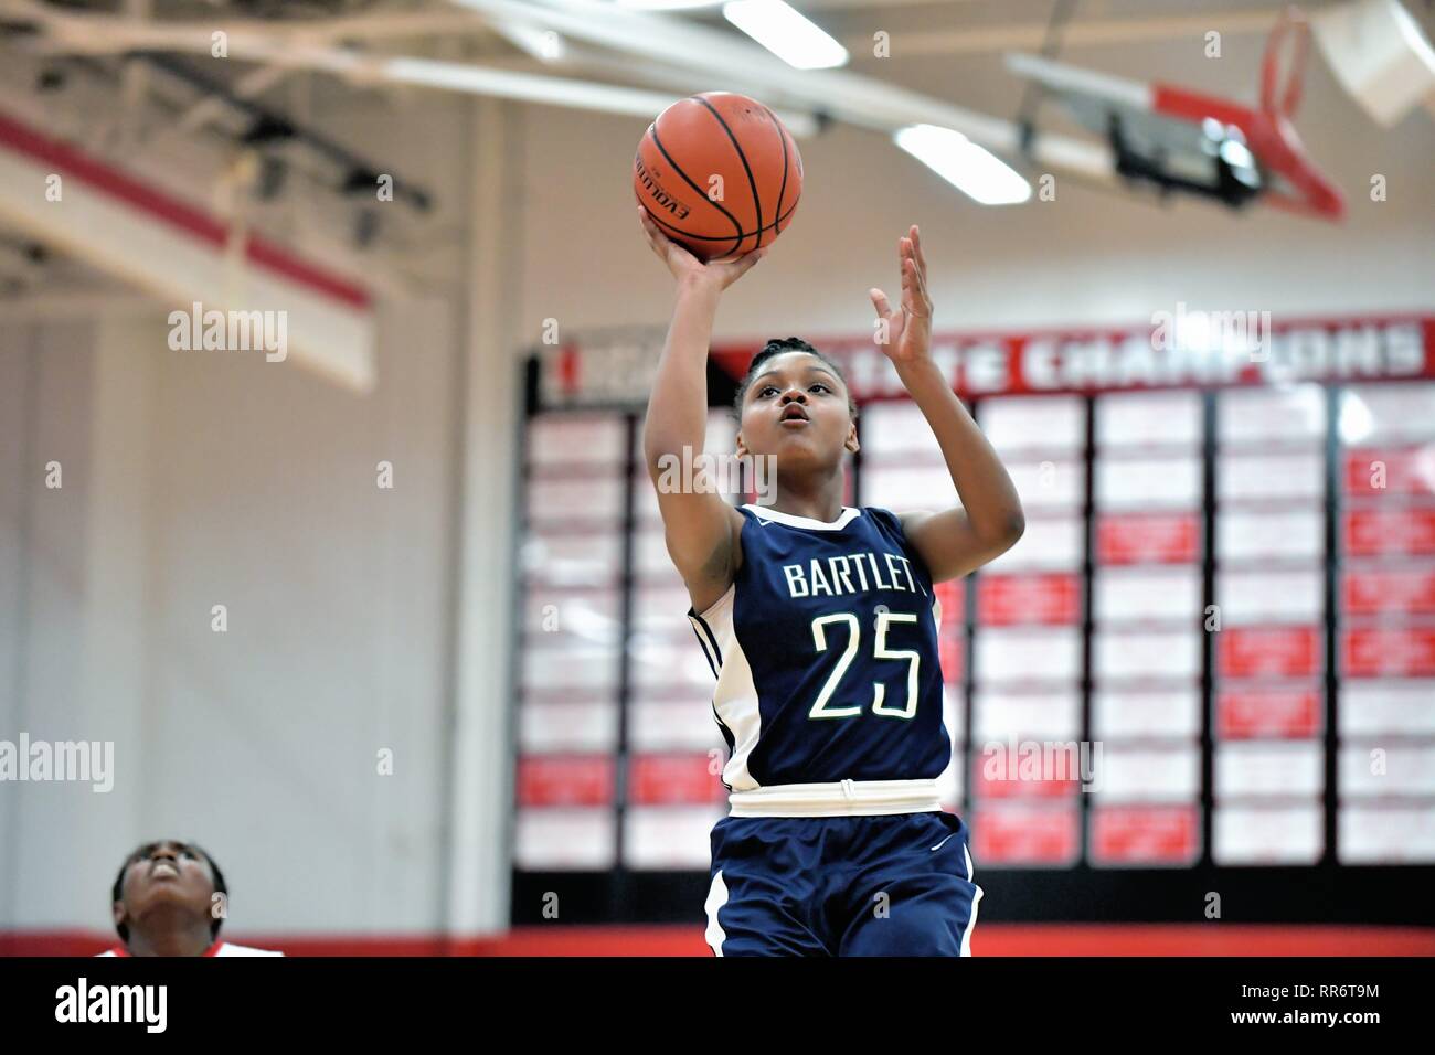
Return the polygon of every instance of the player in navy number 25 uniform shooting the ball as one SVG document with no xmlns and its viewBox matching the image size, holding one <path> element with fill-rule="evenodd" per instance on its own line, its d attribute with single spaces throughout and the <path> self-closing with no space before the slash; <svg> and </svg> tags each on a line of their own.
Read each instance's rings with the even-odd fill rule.
<svg viewBox="0 0 1435 1055">
<path fill-rule="evenodd" d="M 718 301 L 768 250 L 703 264 L 639 212 L 677 281 L 643 436 L 657 484 L 660 464 L 702 452 Z M 966 824 L 937 795 L 951 741 L 933 584 L 1004 553 L 1025 520 L 1010 477 L 931 359 L 916 227 L 898 258 L 900 307 L 870 291 L 887 330 L 878 336 L 960 507 L 897 515 L 842 505 L 857 411 L 841 370 L 796 337 L 768 342 L 738 393 L 736 454 L 775 458 L 772 504 L 735 508 L 713 491 L 657 488 L 730 752 L 730 812 L 712 831 L 706 904 L 718 956 L 970 955 L 982 890 Z"/>
</svg>

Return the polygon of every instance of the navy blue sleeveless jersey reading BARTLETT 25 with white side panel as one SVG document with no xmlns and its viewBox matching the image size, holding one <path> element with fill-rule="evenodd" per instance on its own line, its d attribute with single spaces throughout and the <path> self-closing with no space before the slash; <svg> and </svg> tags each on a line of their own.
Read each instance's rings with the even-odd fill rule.
<svg viewBox="0 0 1435 1055">
<path fill-rule="evenodd" d="M 897 515 L 742 515 L 732 589 L 689 610 L 718 675 L 728 789 L 941 775 L 941 606 Z"/>
</svg>

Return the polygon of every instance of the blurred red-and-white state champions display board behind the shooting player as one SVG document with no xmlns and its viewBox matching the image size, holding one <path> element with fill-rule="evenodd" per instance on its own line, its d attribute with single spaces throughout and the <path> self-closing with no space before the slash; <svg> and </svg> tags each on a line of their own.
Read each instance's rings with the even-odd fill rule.
<svg viewBox="0 0 1435 1055">
<path fill-rule="evenodd" d="M 1435 314 L 1172 316 L 934 340 L 1027 521 L 941 587 L 993 919 L 1185 919 L 1218 873 L 1247 922 L 1435 923 Z M 850 501 L 956 502 L 870 336 L 808 339 L 862 405 Z M 725 754 L 639 455 L 662 340 L 528 365 L 515 906 L 700 914 Z M 710 451 L 759 346 L 713 347 Z"/>
</svg>

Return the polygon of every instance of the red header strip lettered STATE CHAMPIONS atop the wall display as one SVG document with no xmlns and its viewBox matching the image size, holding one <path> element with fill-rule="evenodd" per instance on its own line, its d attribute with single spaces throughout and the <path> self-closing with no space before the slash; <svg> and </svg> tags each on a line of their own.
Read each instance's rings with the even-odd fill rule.
<svg viewBox="0 0 1435 1055">
<path fill-rule="evenodd" d="M 593 334 L 538 349 L 544 408 L 641 405 L 663 327 Z M 837 359 L 858 402 L 903 399 L 870 334 L 808 336 Z M 738 379 L 762 342 L 718 342 L 712 359 Z M 1435 378 L 1435 314 L 1271 320 L 1269 311 L 1177 304 L 1128 327 L 933 334 L 933 359 L 963 398 L 1230 388 Z"/>
</svg>

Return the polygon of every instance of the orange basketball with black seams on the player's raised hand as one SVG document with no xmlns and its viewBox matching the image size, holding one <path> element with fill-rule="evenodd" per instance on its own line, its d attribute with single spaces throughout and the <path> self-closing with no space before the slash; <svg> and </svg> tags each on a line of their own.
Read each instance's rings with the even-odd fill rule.
<svg viewBox="0 0 1435 1055">
<path fill-rule="evenodd" d="M 802 155 L 755 99 L 703 92 L 657 115 L 633 159 L 633 192 L 699 260 L 771 245 L 802 194 Z"/>
</svg>

